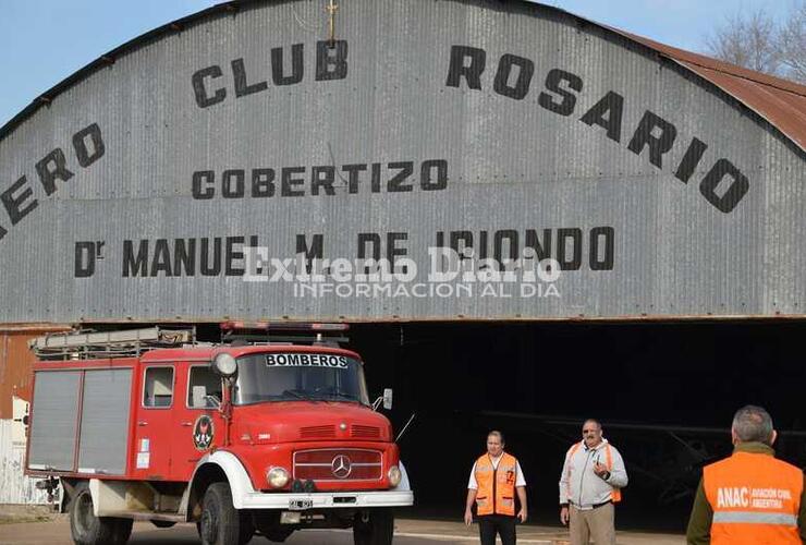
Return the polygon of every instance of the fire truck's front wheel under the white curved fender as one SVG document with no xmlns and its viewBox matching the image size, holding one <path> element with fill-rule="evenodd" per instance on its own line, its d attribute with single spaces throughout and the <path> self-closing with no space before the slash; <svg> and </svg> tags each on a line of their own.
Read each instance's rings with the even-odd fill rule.
<svg viewBox="0 0 806 545">
<path fill-rule="evenodd" d="M 212 483 L 208 486 L 198 521 L 203 545 L 243 545 L 252 538 L 252 534 L 249 532 L 247 537 L 246 532 L 242 532 L 242 525 L 241 516 L 232 506 L 230 485 Z"/>
</svg>

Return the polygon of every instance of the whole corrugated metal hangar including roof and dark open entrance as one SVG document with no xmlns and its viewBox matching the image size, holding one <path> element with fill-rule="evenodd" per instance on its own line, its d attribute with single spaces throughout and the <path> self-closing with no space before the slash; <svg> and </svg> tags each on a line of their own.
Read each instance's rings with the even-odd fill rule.
<svg viewBox="0 0 806 545">
<path fill-rule="evenodd" d="M 745 402 L 806 462 L 806 87 L 526 1 L 325 5 L 176 21 L 0 129 L 3 339 L 350 323 L 436 511 L 490 426 L 549 520 L 589 415 L 681 509 Z"/>
</svg>

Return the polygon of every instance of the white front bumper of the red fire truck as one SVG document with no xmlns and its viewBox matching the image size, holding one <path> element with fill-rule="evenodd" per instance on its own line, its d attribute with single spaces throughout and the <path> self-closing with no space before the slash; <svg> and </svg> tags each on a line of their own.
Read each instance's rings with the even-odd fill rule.
<svg viewBox="0 0 806 545">
<path fill-rule="evenodd" d="M 243 509 L 294 509 L 292 506 L 309 505 L 308 509 L 344 509 L 371 507 L 406 507 L 414 504 L 411 491 L 338 492 L 338 493 L 259 493 L 241 496 Z M 297 507 L 298 509 L 298 507 Z"/>
</svg>

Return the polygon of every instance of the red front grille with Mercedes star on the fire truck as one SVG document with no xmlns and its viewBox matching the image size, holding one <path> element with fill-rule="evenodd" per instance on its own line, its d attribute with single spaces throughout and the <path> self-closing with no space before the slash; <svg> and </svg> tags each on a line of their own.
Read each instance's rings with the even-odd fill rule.
<svg viewBox="0 0 806 545">
<path fill-rule="evenodd" d="M 297 450 L 293 474 L 314 481 L 380 481 L 383 458 L 377 450 L 354 448 Z"/>
</svg>

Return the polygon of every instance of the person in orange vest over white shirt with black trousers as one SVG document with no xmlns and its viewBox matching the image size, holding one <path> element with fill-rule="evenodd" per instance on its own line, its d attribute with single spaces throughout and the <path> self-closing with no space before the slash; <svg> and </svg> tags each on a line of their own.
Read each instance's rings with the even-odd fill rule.
<svg viewBox="0 0 806 545">
<path fill-rule="evenodd" d="M 473 523 L 473 504 L 476 504 L 481 545 L 494 545 L 496 534 L 503 545 L 515 545 L 515 521 L 526 522 L 526 480 L 517 459 L 503 451 L 501 432 L 487 435 L 487 452 L 471 470 L 465 504 L 465 524 Z M 521 509 L 515 516 L 515 494 Z"/>
</svg>

